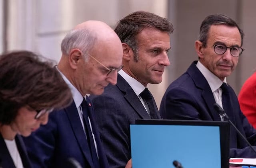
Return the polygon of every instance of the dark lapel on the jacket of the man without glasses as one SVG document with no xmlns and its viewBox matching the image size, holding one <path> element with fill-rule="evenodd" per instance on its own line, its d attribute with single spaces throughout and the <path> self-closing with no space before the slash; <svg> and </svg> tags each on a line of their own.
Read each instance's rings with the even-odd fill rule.
<svg viewBox="0 0 256 168">
<path fill-rule="evenodd" d="M 142 119 L 150 119 L 150 116 L 140 102 L 140 99 L 120 74 L 118 74 L 116 86 L 124 93 L 124 98 L 127 100 L 127 102 L 129 102 L 129 104 Z"/>
</svg>

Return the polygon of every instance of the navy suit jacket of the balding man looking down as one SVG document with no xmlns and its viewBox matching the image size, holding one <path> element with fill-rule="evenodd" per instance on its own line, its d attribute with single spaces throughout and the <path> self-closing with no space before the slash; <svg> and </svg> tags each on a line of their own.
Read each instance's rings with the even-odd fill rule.
<svg viewBox="0 0 256 168">
<path fill-rule="evenodd" d="M 87 103 L 90 100 L 87 98 Z M 92 106 L 89 115 L 98 147 L 100 168 L 108 168 L 106 154 L 102 148 Z M 49 115 L 47 125 L 42 125 L 30 137 L 24 138 L 33 168 L 68 167 L 68 158 L 76 159 L 83 168 L 92 166 L 90 152 L 86 150 L 86 137 L 75 103 Z"/>
</svg>

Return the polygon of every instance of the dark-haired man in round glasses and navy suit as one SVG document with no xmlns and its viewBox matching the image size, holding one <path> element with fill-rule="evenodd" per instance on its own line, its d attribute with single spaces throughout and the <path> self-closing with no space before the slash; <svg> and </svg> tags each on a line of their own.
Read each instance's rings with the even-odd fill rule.
<svg viewBox="0 0 256 168">
<path fill-rule="evenodd" d="M 230 120 L 252 145 L 256 131 L 242 114 L 234 90 L 226 83 L 242 54 L 244 33 L 237 23 L 221 14 L 205 18 L 195 42 L 199 60 L 166 90 L 160 105 L 164 119 L 220 121 L 213 105 L 224 108 Z M 230 157 L 256 157 L 246 142 L 230 128 Z"/>
</svg>

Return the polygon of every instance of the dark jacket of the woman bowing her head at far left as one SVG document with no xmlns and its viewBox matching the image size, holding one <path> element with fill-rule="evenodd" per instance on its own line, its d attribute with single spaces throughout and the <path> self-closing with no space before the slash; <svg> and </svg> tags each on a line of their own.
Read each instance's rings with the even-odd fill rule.
<svg viewBox="0 0 256 168">
<path fill-rule="evenodd" d="M 16 145 L 20 153 L 20 158 L 22 160 L 22 164 L 24 168 L 31 168 L 31 164 L 28 159 L 28 154 L 26 152 L 25 145 L 22 141 L 22 137 L 20 135 L 16 135 L 15 141 L 16 141 Z M 10 152 L 6 147 L 6 144 L 1 134 L 0 134 L 0 168 L 16 168 L 12 160 L 12 157 L 10 155 Z"/>
</svg>

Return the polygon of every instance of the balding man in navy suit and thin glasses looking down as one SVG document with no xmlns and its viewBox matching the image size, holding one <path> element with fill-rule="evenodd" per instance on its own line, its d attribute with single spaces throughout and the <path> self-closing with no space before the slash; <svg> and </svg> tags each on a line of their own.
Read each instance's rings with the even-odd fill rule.
<svg viewBox="0 0 256 168">
<path fill-rule="evenodd" d="M 84 168 L 108 168 L 92 104 L 86 94 L 100 95 L 116 84 L 122 68 L 122 44 L 101 21 L 77 25 L 62 40 L 56 67 L 68 84 L 73 103 L 49 115 L 49 122 L 24 139 L 32 167 L 70 167 L 74 159 Z"/>
</svg>

